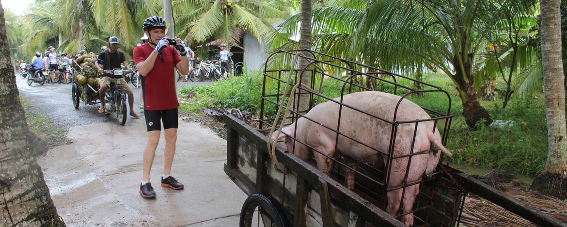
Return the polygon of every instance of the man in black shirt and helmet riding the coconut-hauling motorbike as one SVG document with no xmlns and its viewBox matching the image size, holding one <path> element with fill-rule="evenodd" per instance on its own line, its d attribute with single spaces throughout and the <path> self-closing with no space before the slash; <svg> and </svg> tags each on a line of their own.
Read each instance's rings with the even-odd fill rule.
<svg viewBox="0 0 567 227">
<path fill-rule="evenodd" d="M 109 48 L 103 52 L 100 52 L 98 59 L 95 61 L 95 68 L 98 69 L 99 73 L 104 73 L 104 70 L 121 69 L 122 66 L 120 64 L 124 64 L 126 66 L 126 69 L 128 69 L 130 73 L 133 72 L 132 69 L 130 69 L 128 62 L 126 62 L 126 57 L 124 56 L 124 53 L 118 50 L 119 44 L 120 41 L 116 36 L 112 36 L 110 37 L 110 39 L 108 39 Z M 99 62 L 103 62 L 101 65 L 104 66 L 104 69 L 99 65 Z M 130 86 L 128 86 L 128 83 L 126 82 L 124 77 L 121 77 L 120 80 L 122 82 L 122 86 L 124 87 L 124 90 L 126 90 L 126 94 L 128 94 L 128 104 L 130 104 L 130 116 L 135 118 L 140 117 L 138 113 L 134 111 L 134 108 L 132 108 L 134 106 L 134 92 L 132 91 L 132 89 L 130 89 Z M 111 81 L 112 79 L 108 76 L 104 76 L 99 79 L 99 87 L 100 87 L 99 113 L 104 113 L 104 106 L 105 106 L 104 95 L 106 91 L 109 89 Z"/>
</svg>

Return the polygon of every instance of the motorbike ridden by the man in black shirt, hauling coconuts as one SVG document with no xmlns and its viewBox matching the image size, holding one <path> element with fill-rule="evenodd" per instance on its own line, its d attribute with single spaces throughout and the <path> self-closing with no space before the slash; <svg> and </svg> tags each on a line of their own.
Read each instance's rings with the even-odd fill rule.
<svg viewBox="0 0 567 227">
<path fill-rule="evenodd" d="M 124 90 L 121 80 L 126 73 L 128 73 L 128 70 L 113 69 L 104 70 L 104 73 L 100 74 L 100 77 L 106 75 L 113 80 L 113 82 L 110 83 L 110 90 L 104 95 L 104 101 L 106 103 L 104 106 L 104 114 L 109 116 L 116 113 L 120 125 L 126 124 L 126 115 L 128 115 L 128 112 L 126 112 L 126 90 Z"/>
</svg>

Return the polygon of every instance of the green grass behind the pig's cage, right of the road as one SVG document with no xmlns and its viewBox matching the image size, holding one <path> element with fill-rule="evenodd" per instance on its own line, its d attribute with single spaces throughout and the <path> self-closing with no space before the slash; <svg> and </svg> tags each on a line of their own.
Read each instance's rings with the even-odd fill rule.
<svg viewBox="0 0 567 227">
<path fill-rule="evenodd" d="M 225 107 L 246 110 L 255 115 L 260 113 L 262 80 L 260 72 L 253 72 L 243 77 L 235 77 L 211 86 L 183 87 L 180 96 L 187 96 L 191 91 L 198 93 L 196 98 L 181 103 L 180 110 L 189 115 L 202 115 L 202 108 Z M 425 82 L 442 87 L 450 94 L 450 113 L 455 115 L 447 142 L 447 148 L 454 157 L 446 160 L 459 164 L 479 165 L 490 169 L 510 170 L 513 173 L 538 174 L 543 170 L 547 160 L 547 128 L 545 125 L 545 107 L 540 99 L 512 100 L 506 111 L 502 110 L 502 100 L 482 101 L 494 121 L 513 122 L 511 127 L 480 127 L 476 131 L 468 129 L 462 116 L 461 100 L 448 78 L 439 75 L 428 77 Z M 276 84 L 266 83 L 266 93 L 282 93 L 277 91 Z M 503 86 L 499 83 L 498 86 Z M 325 80 L 321 93 L 330 97 L 340 95 L 342 83 Z M 388 86 L 380 87 L 388 90 Z M 505 89 L 497 87 L 497 89 Z M 543 95 L 540 95 L 543 97 Z M 425 97 L 408 97 L 413 102 L 432 108 L 439 112 L 447 112 L 449 102 L 443 93 L 428 93 Z M 274 98 L 275 99 L 275 98 Z M 324 102 L 321 100 L 320 102 Z M 266 106 L 265 113 L 274 115 L 276 106 Z"/>
</svg>

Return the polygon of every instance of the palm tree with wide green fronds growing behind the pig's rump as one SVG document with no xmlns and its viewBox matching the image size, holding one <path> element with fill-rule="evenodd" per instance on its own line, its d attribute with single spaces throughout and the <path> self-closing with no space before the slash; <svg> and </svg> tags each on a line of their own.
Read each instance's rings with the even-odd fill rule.
<svg viewBox="0 0 567 227">
<path fill-rule="evenodd" d="M 386 1 L 377 0 L 366 11 L 357 43 L 379 51 L 356 49 L 381 65 L 400 66 L 423 61 L 444 72 L 454 82 L 463 103 L 469 127 L 479 120 L 492 122 L 477 99 L 477 64 L 483 44 L 494 33 L 507 31 L 506 23 L 496 23 L 507 14 L 531 15 L 537 1 Z M 506 9 L 506 10 L 505 10 Z M 510 9 L 510 10 L 507 10 Z M 423 24 L 424 26 L 415 26 Z"/>
</svg>

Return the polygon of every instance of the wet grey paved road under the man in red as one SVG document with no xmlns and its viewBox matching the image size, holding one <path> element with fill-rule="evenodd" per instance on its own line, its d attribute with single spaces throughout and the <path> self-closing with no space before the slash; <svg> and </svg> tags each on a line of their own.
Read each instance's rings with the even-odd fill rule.
<svg viewBox="0 0 567 227">
<path fill-rule="evenodd" d="M 71 85 L 28 86 L 19 75 L 16 82 L 32 111 L 52 118 L 73 141 L 38 157 L 67 226 L 238 226 L 246 194 L 224 173 L 226 140 L 210 129 L 180 120 L 172 168 L 172 176 L 185 184 L 179 191 L 159 184 L 162 136 L 150 176 L 157 196 L 143 199 L 138 193 L 146 145 L 143 117 L 129 117 L 121 126 L 116 115 L 98 113 L 98 105 L 81 103 L 75 110 Z M 133 91 L 136 107 L 139 89 Z"/>
</svg>

